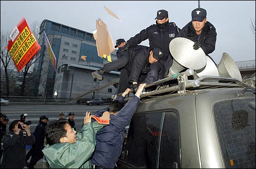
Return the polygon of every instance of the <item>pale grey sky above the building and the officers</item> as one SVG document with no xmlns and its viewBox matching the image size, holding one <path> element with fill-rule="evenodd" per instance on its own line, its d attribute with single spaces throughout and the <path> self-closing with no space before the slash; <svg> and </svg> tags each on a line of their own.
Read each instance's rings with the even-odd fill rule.
<svg viewBox="0 0 256 169">
<path fill-rule="evenodd" d="M 121 20 L 109 15 L 104 6 Z M 207 20 L 217 31 L 216 49 L 210 56 L 219 64 L 222 53 L 234 60 L 255 59 L 255 40 L 250 19 L 255 20 L 255 1 L 200 1 L 207 11 Z M 191 11 L 198 1 L 1 1 L 1 31 L 11 32 L 24 16 L 29 25 L 48 19 L 92 33 L 96 20 L 102 19 L 115 40 L 128 40 L 155 23 L 160 9 L 169 12 L 169 20 L 180 29 L 191 20 Z M 142 42 L 148 46 L 148 41 Z"/>
</svg>

